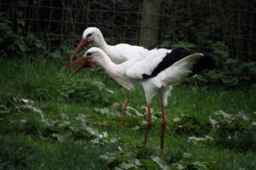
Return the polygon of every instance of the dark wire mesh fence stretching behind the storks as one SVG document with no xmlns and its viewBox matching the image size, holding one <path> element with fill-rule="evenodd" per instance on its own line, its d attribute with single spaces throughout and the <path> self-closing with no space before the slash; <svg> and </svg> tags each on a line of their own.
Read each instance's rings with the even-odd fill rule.
<svg viewBox="0 0 256 170">
<path fill-rule="evenodd" d="M 158 13 L 143 9 L 152 1 L 161 3 Z M 110 44 L 138 44 L 147 27 L 158 34 L 152 48 L 188 42 L 208 50 L 224 42 L 236 58 L 253 60 L 256 54 L 256 2 L 249 0 L 2 0 L 0 5 L 9 20 L 25 20 L 23 34 L 33 33 L 51 49 L 79 42 L 89 26 L 100 28 Z M 143 14 L 159 17 L 159 26 L 145 26 Z"/>
</svg>

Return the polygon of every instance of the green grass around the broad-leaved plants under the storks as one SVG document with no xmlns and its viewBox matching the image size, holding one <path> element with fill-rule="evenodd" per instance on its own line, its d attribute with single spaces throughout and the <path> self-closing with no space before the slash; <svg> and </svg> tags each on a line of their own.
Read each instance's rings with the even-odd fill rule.
<svg viewBox="0 0 256 170">
<path fill-rule="evenodd" d="M 64 65 L 56 60 L 40 59 L 2 60 L 0 63 L 0 105 L 12 105 L 6 99 L 15 97 L 35 101 L 35 106 L 44 111 L 44 116 L 51 119 L 61 119 L 61 114 L 69 116 L 70 126 L 80 126 L 76 116 L 79 113 L 88 115 L 89 126 L 99 132 L 108 132 L 111 137 L 119 138 L 118 142 L 94 144 L 90 139 L 69 139 L 58 142 L 56 139 L 38 134 L 37 129 L 29 127 L 20 120 L 40 120 L 40 115 L 34 111 L 12 110 L 0 112 L 0 169 L 108 169 L 106 161 L 99 158 L 109 153 L 119 153 L 119 147 L 131 157 L 150 159 L 150 156 L 160 156 L 168 166 L 173 163 L 185 165 L 188 162 L 200 161 L 209 169 L 255 169 L 255 150 L 233 150 L 224 145 L 207 143 L 191 144 L 184 134 L 174 133 L 173 118 L 183 115 L 194 116 L 200 122 L 207 122 L 215 111 L 222 110 L 235 114 L 245 111 L 253 115 L 256 111 L 255 88 L 225 89 L 213 87 L 197 87 L 181 84 L 174 88 L 169 104 L 166 107 L 168 127 L 164 154 L 160 154 L 160 118 L 151 128 L 146 148 L 141 148 L 143 128 L 133 130 L 132 127 L 142 126 L 145 117 L 126 116 L 124 129 L 118 126 L 119 116 L 102 116 L 94 108 L 108 107 L 113 102 L 122 103 L 125 90 L 116 90 L 116 84 L 106 76 L 101 69 L 84 70 L 73 77 L 67 78 L 67 73 L 61 72 Z M 75 88 L 77 84 L 83 90 L 85 81 L 101 81 L 114 94 L 100 99 L 92 99 L 101 94 L 90 94 L 89 97 L 75 95 L 72 99 L 61 98 L 66 88 Z M 82 81 L 81 83 L 78 83 Z M 72 85 L 74 84 L 74 85 Z M 92 96 L 91 96 L 92 95 Z M 70 97 L 70 96 L 69 96 Z M 104 102 L 100 102 L 100 101 Z M 97 102 L 96 102 L 97 101 Z M 16 104 L 14 104 L 16 105 Z M 143 90 L 137 88 L 131 96 L 131 104 L 138 111 L 145 112 Z M 153 101 L 154 115 L 160 114 L 159 99 Z M 11 107 L 11 106 L 10 106 Z M 121 110 L 119 111 L 121 113 Z M 187 153 L 189 156 L 184 156 Z M 185 154 L 186 155 L 186 154 Z M 153 168 L 153 167 L 152 167 Z"/>
</svg>

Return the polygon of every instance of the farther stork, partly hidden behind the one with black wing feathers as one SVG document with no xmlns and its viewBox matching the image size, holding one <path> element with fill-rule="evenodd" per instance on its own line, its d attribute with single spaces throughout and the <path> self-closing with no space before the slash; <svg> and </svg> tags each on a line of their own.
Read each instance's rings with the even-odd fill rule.
<svg viewBox="0 0 256 170">
<path fill-rule="evenodd" d="M 115 64 L 123 63 L 128 59 L 134 58 L 143 58 L 148 54 L 148 49 L 133 46 L 128 43 L 119 43 L 117 45 L 108 45 L 105 42 L 104 37 L 102 36 L 102 32 L 96 27 L 88 27 L 84 30 L 82 40 L 79 42 L 78 47 L 74 50 L 73 55 L 70 57 L 71 61 L 75 58 L 79 51 L 84 47 L 97 47 L 102 48 L 102 50 L 108 54 L 108 57 L 113 61 Z M 81 69 L 88 67 L 89 65 L 81 65 L 78 70 L 73 72 L 73 75 L 76 74 Z M 90 63 L 89 67 L 92 67 L 93 63 Z M 129 104 L 131 98 L 131 92 L 128 91 L 126 94 L 124 103 L 123 103 L 123 116 L 120 119 L 119 125 L 120 127 L 123 126 L 123 119 L 126 114 L 127 105 Z"/>
</svg>

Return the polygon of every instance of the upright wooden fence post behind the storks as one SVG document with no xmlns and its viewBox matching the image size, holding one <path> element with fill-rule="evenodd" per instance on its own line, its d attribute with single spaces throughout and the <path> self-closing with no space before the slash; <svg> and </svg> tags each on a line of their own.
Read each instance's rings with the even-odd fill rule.
<svg viewBox="0 0 256 170">
<path fill-rule="evenodd" d="M 139 45 L 151 48 L 158 41 L 162 0 L 143 0 Z"/>
</svg>

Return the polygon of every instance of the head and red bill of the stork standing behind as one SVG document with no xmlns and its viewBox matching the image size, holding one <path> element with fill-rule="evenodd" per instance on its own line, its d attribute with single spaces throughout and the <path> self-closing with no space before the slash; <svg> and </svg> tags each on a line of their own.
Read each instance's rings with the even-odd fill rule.
<svg viewBox="0 0 256 170">
<path fill-rule="evenodd" d="M 79 51 L 85 47 L 101 47 L 102 43 L 106 43 L 102 36 L 102 32 L 96 27 L 88 27 L 84 30 L 81 42 L 70 57 L 71 61 L 79 54 Z"/>
</svg>

